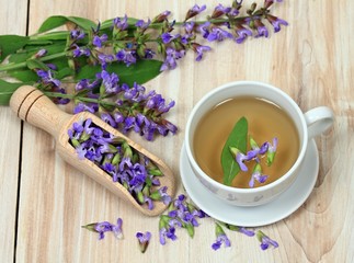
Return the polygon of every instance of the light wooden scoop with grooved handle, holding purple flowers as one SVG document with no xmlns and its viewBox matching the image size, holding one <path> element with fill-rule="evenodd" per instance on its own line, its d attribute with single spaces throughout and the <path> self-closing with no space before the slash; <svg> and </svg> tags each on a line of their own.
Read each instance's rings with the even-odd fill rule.
<svg viewBox="0 0 354 263">
<path fill-rule="evenodd" d="M 112 176 L 104 172 L 92 161 L 90 161 L 89 159 L 80 160 L 78 158 L 75 148 L 69 142 L 68 129 L 71 128 L 72 124 L 76 122 L 91 118 L 92 123 L 94 123 L 96 126 L 117 137 L 124 138 L 130 147 L 135 148 L 137 151 L 153 161 L 164 174 L 163 176 L 159 176 L 161 186 L 168 186 L 167 193 L 170 196 L 174 195 L 174 176 L 172 174 L 172 171 L 161 161 L 161 159 L 157 158 L 156 156 L 144 149 L 140 145 L 134 142 L 95 115 L 88 112 L 82 112 L 76 115 L 67 114 L 59 107 L 57 107 L 39 90 L 30 85 L 23 85 L 13 93 L 10 100 L 10 107 L 23 121 L 28 122 L 30 124 L 49 133 L 55 138 L 57 151 L 65 161 L 109 188 L 112 193 L 116 194 L 122 199 L 130 203 L 142 214 L 147 216 L 157 216 L 167 208 L 167 206 L 162 202 L 158 201 L 155 202 L 155 208 L 152 210 L 149 210 L 146 204 L 138 204 L 137 201 L 135 201 L 135 198 L 122 184 L 113 182 Z"/>
</svg>

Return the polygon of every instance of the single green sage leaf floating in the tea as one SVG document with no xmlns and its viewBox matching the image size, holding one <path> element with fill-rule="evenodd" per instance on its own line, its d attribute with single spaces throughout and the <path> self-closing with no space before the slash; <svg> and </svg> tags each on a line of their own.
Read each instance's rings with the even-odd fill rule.
<svg viewBox="0 0 354 263">
<path fill-rule="evenodd" d="M 221 167 L 224 172 L 224 184 L 231 185 L 235 176 L 240 172 L 240 167 L 232 157 L 229 147 L 236 147 L 241 152 L 247 150 L 248 122 L 241 117 L 233 126 L 227 138 L 221 152 Z"/>
</svg>

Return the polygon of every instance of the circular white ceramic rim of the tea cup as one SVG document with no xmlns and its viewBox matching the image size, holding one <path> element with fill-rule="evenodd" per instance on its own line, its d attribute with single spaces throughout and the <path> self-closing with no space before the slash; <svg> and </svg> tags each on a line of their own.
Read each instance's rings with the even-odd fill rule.
<svg viewBox="0 0 354 263">
<path fill-rule="evenodd" d="M 239 87 L 239 85 L 261 85 L 261 87 L 263 87 L 265 89 L 271 90 L 272 92 L 281 94 L 285 100 L 287 100 L 287 102 L 289 103 L 289 106 L 292 106 L 293 110 L 296 111 L 296 113 L 297 113 L 297 115 L 298 115 L 298 117 L 299 117 L 299 119 L 301 122 L 300 127 L 301 127 L 301 133 L 302 133 L 302 142 L 300 145 L 299 156 L 298 156 L 297 160 L 295 161 L 295 163 L 293 164 L 293 167 L 283 176 L 281 176 L 276 181 L 274 181 L 274 182 L 272 182 L 270 184 L 266 184 L 266 185 L 255 187 L 255 188 L 237 188 L 237 187 L 232 187 L 232 186 L 221 184 L 221 183 L 213 180 L 210 176 L 208 176 L 199 168 L 199 165 L 195 161 L 195 159 L 193 157 L 193 153 L 192 153 L 191 144 L 190 144 L 189 134 L 190 134 L 190 129 L 191 129 L 191 125 L 193 123 L 194 116 L 195 116 L 196 112 L 198 111 L 198 108 L 206 101 L 208 101 L 215 93 L 224 91 L 226 89 L 230 89 L 232 87 Z M 198 173 L 198 175 L 201 175 L 208 183 L 210 183 L 212 185 L 214 185 L 214 186 L 216 186 L 216 187 L 218 187 L 220 190 L 232 192 L 232 193 L 236 193 L 236 194 L 239 194 L 239 193 L 243 193 L 243 194 L 252 193 L 252 194 L 254 194 L 254 193 L 259 193 L 259 192 L 263 192 L 263 191 L 273 188 L 274 186 L 276 186 L 278 184 L 282 184 L 284 181 L 288 180 L 288 178 L 290 178 L 293 175 L 293 173 L 296 171 L 296 169 L 299 168 L 299 165 L 302 163 L 302 160 L 304 160 L 304 157 L 305 157 L 305 153 L 306 153 L 306 149 L 307 149 L 307 145 L 308 145 L 308 128 L 307 128 L 307 124 L 306 124 L 302 111 L 299 108 L 299 106 L 296 104 L 296 102 L 287 93 L 285 93 L 281 89 L 275 88 L 274 85 L 271 85 L 271 84 L 267 84 L 267 83 L 264 83 L 264 82 L 259 82 L 259 81 L 235 81 L 235 82 L 229 82 L 229 83 L 226 83 L 226 84 L 222 84 L 220 87 L 217 87 L 217 88 L 213 89 L 212 91 L 206 93 L 194 105 L 194 107 L 193 107 L 193 110 L 192 110 L 192 112 L 191 112 L 191 114 L 189 116 L 187 123 L 186 123 L 184 142 L 185 142 L 185 150 L 186 150 L 186 153 L 187 153 L 187 158 L 189 158 L 189 161 L 190 161 L 192 168 Z"/>
</svg>

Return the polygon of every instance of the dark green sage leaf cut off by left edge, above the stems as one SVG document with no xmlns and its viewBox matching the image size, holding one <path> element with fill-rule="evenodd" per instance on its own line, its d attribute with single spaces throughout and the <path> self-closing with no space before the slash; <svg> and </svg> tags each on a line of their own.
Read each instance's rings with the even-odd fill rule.
<svg viewBox="0 0 354 263">
<path fill-rule="evenodd" d="M 30 41 L 27 36 L 1 35 L 0 36 L 0 62 L 10 54 L 24 47 Z"/>
</svg>

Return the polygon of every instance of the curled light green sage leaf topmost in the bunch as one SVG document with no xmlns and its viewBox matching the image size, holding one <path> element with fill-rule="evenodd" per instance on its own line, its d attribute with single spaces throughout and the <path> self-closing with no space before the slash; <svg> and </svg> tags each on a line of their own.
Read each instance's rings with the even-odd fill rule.
<svg viewBox="0 0 354 263">
<path fill-rule="evenodd" d="M 96 24 L 91 20 L 78 18 L 78 16 L 64 16 L 64 15 L 53 15 L 46 19 L 41 25 L 38 33 L 47 32 L 64 25 L 67 22 L 72 22 L 80 26 L 83 30 L 91 30 L 91 27 L 95 28 Z"/>
</svg>

